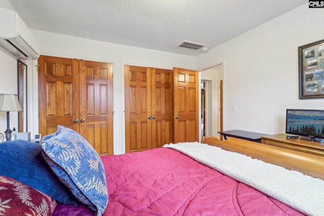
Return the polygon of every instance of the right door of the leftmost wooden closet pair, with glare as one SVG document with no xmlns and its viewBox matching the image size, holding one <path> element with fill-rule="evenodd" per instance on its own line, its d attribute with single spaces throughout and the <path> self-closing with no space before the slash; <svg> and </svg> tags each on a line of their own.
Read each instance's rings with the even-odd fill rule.
<svg viewBox="0 0 324 216">
<path fill-rule="evenodd" d="M 79 60 L 79 97 L 80 134 L 99 155 L 112 155 L 112 64 Z"/>
</svg>

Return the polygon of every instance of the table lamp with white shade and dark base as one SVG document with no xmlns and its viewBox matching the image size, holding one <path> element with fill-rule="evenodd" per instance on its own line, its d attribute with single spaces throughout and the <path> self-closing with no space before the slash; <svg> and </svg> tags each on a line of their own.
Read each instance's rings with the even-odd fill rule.
<svg viewBox="0 0 324 216">
<path fill-rule="evenodd" d="M 0 112 L 7 112 L 7 130 L 5 131 L 7 141 L 11 140 L 11 129 L 9 126 L 9 112 L 21 111 L 18 97 L 15 94 L 0 94 Z"/>
</svg>

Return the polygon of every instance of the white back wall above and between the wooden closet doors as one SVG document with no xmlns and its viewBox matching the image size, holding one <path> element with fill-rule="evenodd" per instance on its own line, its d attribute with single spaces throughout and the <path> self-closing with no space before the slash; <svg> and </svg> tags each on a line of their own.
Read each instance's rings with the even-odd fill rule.
<svg viewBox="0 0 324 216">
<path fill-rule="evenodd" d="M 124 65 L 146 66 L 164 69 L 180 67 L 195 68 L 195 58 L 148 49 L 110 44 L 96 40 L 54 34 L 44 31 L 32 31 L 38 41 L 42 55 L 64 58 L 76 58 L 113 64 L 113 104 L 114 104 L 114 154 L 125 152 L 125 100 Z M 36 72 L 34 85 L 37 84 Z M 37 91 L 34 92 L 37 97 Z M 34 109 L 37 116 L 37 109 Z M 35 129 L 38 125 L 35 125 Z"/>
</svg>

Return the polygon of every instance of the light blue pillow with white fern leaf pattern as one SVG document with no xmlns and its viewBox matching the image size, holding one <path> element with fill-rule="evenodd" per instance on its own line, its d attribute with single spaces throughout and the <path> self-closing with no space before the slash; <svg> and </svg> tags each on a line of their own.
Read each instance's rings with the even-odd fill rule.
<svg viewBox="0 0 324 216">
<path fill-rule="evenodd" d="M 72 194 L 102 215 L 108 204 L 105 170 L 100 156 L 81 135 L 58 125 L 42 138 L 43 157 Z"/>
</svg>

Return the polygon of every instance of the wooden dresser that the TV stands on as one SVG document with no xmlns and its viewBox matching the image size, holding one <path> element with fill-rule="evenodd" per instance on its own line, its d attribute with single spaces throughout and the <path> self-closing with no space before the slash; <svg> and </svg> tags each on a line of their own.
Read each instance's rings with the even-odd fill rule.
<svg viewBox="0 0 324 216">
<path fill-rule="evenodd" d="M 297 139 L 287 139 L 287 134 L 261 136 L 261 143 L 324 157 L 324 143 Z"/>
</svg>

